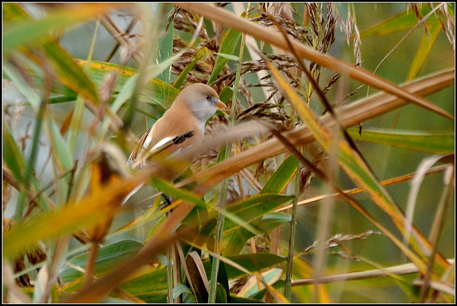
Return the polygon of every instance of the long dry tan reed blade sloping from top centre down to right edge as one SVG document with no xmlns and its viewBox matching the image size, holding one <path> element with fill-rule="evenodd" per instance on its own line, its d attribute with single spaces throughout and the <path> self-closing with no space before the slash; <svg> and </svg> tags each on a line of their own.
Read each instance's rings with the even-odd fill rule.
<svg viewBox="0 0 457 306">
<path fill-rule="evenodd" d="M 203 3 L 174 3 L 174 5 L 185 10 L 189 10 L 195 14 L 205 16 L 215 22 L 251 35 L 269 44 L 278 46 L 283 50 L 287 51 L 289 49 L 287 41 L 276 30 L 268 29 L 254 22 L 247 21 L 224 9 Z M 310 60 L 312 63 L 332 69 L 342 75 L 347 75 L 355 80 L 381 89 L 386 93 L 398 96 L 399 98 L 405 99 L 411 103 L 415 103 L 446 118 L 454 120 L 454 117 L 446 111 L 421 98 L 420 96 L 409 93 L 407 90 L 402 89 L 394 83 L 388 82 L 385 79 L 380 78 L 360 67 L 349 65 L 338 58 L 312 50 L 299 42 L 291 41 L 291 43 L 293 48 L 301 57 Z"/>
</svg>

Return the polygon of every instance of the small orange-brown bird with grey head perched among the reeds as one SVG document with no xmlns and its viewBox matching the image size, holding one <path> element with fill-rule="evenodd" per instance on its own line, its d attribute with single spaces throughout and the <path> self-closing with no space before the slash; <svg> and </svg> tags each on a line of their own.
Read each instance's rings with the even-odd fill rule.
<svg viewBox="0 0 457 306">
<path fill-rule="evenodd" d="M 216 110 L 225 107 L 210 86 L 201 83 L 187 86 L 164 116 L 141 137 L 140 143 L 128 159 L 127 166 L 144 169 L 150 165 L 152 159 L 167 160 L 178 157 L 186 148 L 199 146 L 203 142 L 206 121 Z M 185 163 L 185 168 L 194 158 L 190 157 L 186 161 L 188 164 Z M 177 174 L 173 175 L 174 178 L 181 173 Z"/>
</svg>

